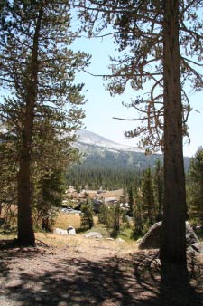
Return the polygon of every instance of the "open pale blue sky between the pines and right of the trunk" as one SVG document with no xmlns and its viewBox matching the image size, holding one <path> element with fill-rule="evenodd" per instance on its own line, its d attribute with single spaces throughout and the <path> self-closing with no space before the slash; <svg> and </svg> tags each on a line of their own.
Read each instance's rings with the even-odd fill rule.
<svg viewBox="0 0 203 306">
<path fill-rule="evenodd" d="M 110 63 L 109 55 L 114 56 L 115 44 L 112 38 L 105 39 L 79 39 L 74 43 L 77 50 L 85 51 L 92 54 L 91 65 L 88 67 L 88 72 L 93 74 L 109 73 L 107 66 Z M 131 98 L 135 98 L 138 92 L 125 91 L 122 96 L 110 96 L 105 90 L 103 81 L 100 77 L 93 77 L 85 72 L 80 72 L 78 80 L 86 84 L 87 103 L 85 105 L 86 120 L 84 120 L 86 129 L 95 132 L 103 137 L 111 139 L 115 142 L 128 146 L 136 146 L 139 139 L 125 139 L 124 131 L 134 129 L 134 121 L 114 120 L 113 117 L 135 118 L 136 113 L 133 109 L 127 109 L 122 105 L 122 101 L 129 102 Z M 197 151 L 198 147 L 203 145 L 203 91 L 195 94 L 189 93 L 191 106 L 198 110 L 190 113 L 189 116 L 189 136 L 190 145 L 187 139 L 184 139 L 184 154 L 192 156 Z"/>
</svg>

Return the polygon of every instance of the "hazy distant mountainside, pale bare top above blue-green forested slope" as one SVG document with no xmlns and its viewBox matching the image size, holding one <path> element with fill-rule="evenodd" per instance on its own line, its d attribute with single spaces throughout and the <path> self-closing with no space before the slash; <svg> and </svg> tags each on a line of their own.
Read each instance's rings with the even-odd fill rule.
<svg viewBox="0 0 203 306">
<path fill-rule="evenodd" d="M 143 170 L 154 167 L 161 154 L 145 155 L 136 147 L 119 145 L 88 130 L 78 132 L 77 147 L 83 154 L 80 168 L 113 168 L 125 170 Z M 186 171 L 189 168 L 189 158 L 185 158 Z"/>
</svg>

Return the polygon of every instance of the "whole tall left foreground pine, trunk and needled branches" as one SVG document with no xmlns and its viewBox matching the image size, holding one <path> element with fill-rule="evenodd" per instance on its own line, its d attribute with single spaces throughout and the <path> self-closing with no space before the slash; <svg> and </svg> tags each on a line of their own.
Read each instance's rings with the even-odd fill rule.
<svg viewBox="0 0 203 306">
<path fill-rule="evenodd" d="M 0 80 L 10 90 L 1 105 L 3 124 L 12 122 L 16 136 L 18 171 L 18 242 L 34 245 L 32 229 L 32 151 L 40 133 L 38 121 L 48 118 L 58 137 L 71 142 L 84 117 L 80 105 L 83 84 L 73 83 L 75 72 L 87 65 L 84 53 L 68 49 L 67 1 L 8 1 L 1 24 Z M 42 126 L 41 126 L 42 127 Z M 37 139 L 37 138 L 36 138 Z M 48 147 L 47 147 L 48 148 Z"/>
</svg>

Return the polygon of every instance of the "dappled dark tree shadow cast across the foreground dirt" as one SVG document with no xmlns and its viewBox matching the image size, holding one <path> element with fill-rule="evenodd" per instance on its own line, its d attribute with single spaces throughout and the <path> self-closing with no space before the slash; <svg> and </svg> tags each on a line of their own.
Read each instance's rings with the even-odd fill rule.
<svg viewBox="0 0 203 306">
<path fill-rule="evenodd" d="M 3 257 L 1 277 L 8 280 L 10 257 Z M 161 268 L 154 252 L 94 262 L 60 259 L 51 271 L 36 269 L 31 274 L 22 269 L 18 284 L 7 286 L 5 294 L 23 306 L 200 306 L 202 262 L 197 264 L 194 258 L 189 262 L 188 272 L 177 266 Z"/>
</svg>

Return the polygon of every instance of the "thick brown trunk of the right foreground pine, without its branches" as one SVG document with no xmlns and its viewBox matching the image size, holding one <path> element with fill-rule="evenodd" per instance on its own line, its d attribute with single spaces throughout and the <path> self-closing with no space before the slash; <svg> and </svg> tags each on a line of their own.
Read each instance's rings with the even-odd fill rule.
<svg viewBox="0 0 203 306">
<path fill-rule="evenodd" d="M 164 1 L 164 206 L 161 263 L 186 263 L 186 193 L 182 153 L 179 1 Z"/>
</svg>

